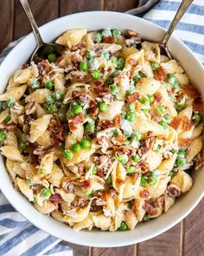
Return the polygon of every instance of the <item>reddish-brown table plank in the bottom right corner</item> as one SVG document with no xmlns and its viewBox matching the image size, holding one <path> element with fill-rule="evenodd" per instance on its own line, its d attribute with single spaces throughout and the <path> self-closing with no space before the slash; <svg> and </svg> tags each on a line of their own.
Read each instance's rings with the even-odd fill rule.
<svg viewBox="0 0 204 256">
<path fill-rule="evenodd" d="M 184 220 L 183 256 L 204 256 L 204 200 Z"/>
</svg>

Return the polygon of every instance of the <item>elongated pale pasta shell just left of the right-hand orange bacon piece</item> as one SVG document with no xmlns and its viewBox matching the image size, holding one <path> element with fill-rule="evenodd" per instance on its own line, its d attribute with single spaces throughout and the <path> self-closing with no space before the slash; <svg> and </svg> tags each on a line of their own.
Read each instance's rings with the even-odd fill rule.
<svg viewBox="0 0 204 256">
<path fill-rule="evenodd" d="M 147 134 L 148 132 L 152 132 L 152 135 L 154 136 L 168 135 L 167 130 L 164 130 L 161 125 L 159 125 L 156 121 L 152 120 L 136 121 L 133 124 L 133 128 L 142 135 Z"/>
</svg>

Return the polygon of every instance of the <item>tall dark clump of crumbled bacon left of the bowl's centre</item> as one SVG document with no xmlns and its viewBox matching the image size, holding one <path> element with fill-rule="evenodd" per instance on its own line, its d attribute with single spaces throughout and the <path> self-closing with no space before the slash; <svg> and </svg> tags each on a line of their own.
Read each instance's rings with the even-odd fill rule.
<svg viewBox="0 0 204 256">
<path fill-rule="evenodd" d="M 61 124 L 58 115 L 54 115 L 48 125 L 48 131 L 50 132 L 51 140 L 55 147 L 59 147 L 63 141 L 65 141 L 65 130 Z"/>
</svg>

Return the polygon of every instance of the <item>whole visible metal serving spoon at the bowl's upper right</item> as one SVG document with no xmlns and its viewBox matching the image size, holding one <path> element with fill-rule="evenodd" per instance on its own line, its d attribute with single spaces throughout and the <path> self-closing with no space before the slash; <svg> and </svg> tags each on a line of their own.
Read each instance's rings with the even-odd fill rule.
<svg viewBox="0 0 204 256">
<path fill-rule="evenodd" d="M 167 30 L 167 32 L 163 36 L 163 40 L 159 43 L 161 51 L 163 52 L 164 55 L 168 56 L 169 59 L 172 59 L 172 56 L 170 55 L 169 49 L 167 47 L 167 43 L 169 41 L 169 38 L 172 35 L 172 33 L 174 32 L 175 27 L 177 26 L 177 23 L 179 23 L 182 16 L 184 15 L 184 13 L 186 12 L 186 10 L 188 9 L 188 7 L 190 6 L 190 4 L 193 1 L 194 0 L 182 0 L 182 3 L 179 6 L 179 9 L 177 10 L 177 12 L 175 14 L 175 17 L 174 17 L 173 21 L 170 23 L 169 29 Z"/>
</svg>

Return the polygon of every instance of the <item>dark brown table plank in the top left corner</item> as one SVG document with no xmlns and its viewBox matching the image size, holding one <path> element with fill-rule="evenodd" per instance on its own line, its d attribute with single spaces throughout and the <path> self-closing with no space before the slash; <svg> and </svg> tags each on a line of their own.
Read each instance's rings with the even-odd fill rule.
<svg viewBox="0 0 204 256">
<path fill-rule="evenodd" d="M 0 1 L 0 51 L 13 39 L 14 0 Z"/>
</svg>

